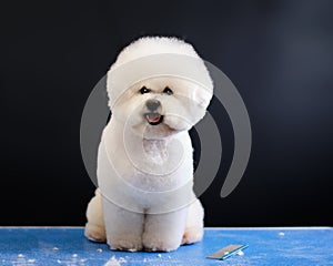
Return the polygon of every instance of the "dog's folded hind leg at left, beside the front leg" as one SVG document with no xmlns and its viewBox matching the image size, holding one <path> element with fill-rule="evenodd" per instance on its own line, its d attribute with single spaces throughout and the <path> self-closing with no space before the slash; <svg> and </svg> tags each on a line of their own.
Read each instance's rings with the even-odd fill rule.
<svg viewBox="0 0 333 266">
<path fill-rule="evenodd" d="M 105 242 L 105 226 L 102 209 L 102 200 L 99 190 L 95 190 L 95 196 L 91 198 L 87 208 L 87 219 L 84 235 L 88 239 L 94 242 Z"/>
</svg>

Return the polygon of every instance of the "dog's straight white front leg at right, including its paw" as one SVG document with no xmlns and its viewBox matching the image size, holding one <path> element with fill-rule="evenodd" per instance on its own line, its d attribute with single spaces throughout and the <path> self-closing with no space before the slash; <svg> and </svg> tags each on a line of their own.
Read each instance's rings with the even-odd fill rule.
<svg viewBox="0 0 333 266">
<path fill-rule="evenodd" d="M 165 214 L 148 214 L 142 243 L 147 250 L 170 252 L 176 249 L 185 229 L 188 207 Z"/>
</svg>

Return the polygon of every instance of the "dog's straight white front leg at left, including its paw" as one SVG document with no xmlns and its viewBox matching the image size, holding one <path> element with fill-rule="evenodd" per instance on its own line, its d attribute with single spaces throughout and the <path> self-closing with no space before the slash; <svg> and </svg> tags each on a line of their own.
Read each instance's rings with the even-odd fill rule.
<svg viewBox="0 0 333 266">
<path fill-rule="evenodd" d="M 108 224 L 107 239 L 111 249 L 137 252 L 142 249 L 143 213 L 121 208 L 103 198 Z"/>
</svg>

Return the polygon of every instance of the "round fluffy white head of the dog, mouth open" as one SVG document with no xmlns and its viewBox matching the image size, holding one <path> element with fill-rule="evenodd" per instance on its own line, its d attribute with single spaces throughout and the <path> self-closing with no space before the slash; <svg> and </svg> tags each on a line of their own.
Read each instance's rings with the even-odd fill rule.
<svg viewBox="0 0 333 266">
<path fill-rule="evenodd" d="M 179 61 L 174 60 L 174 68 L 195 68 L 192 73 L 199 73 L 205 84 L 195 82 L 196 76 L 186 79 L 174 72 L 170 75 L 167 72 L 163 75 L 147 78 L 150 73 L 144 71 L 152 65 L 144 65 L 144 63 L 139 64 L 137 71 L 128 68 L 120 73 L 120 81 L 113 79 L 112 73 L 121 70 L 123 65 L 130 65 L 138 60 L 140 63 L 140 59 L 159 54 L 194 59 L 194 63 L 191 63 L 191 60 L 189 62 L 182 60 L 181 62 L 185 62 L 184 65 L 178 65 Z M 157 62 L 157 68 L 163 64 L 163 61 Z M 132 73 L 138 74 L 138 71 L 142 71 L 145 76 L 137 76 L 138 81 L 135 80 L 134 83 L 119 85 L 127 84 L 124 80 L 130 80 Z M 172 64 L 170 71 L 173 71 Z M 203 61 L 191 44 L 175 38 L 154 37 L 141 38 L 123 49 L 108 73 L 107 88 L 109 105 L 114 119 L 145 139 L 161 139 L 190 130 L 204 116 L 212 98 L 213 84 Z"/>
</svg>

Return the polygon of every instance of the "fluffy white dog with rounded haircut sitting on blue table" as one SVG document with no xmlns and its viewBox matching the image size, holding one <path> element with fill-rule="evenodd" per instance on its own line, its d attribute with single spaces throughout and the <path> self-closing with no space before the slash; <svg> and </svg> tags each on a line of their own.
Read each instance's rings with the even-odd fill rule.
<svg viewBox="0 0 333 266">
<path fill-rule="evenodd" d="M 182 40 L 142 38 L 119 54 L 107 83 L 112 116 L 99 146 L 85 236 L 132 252 L 201 241 L 188 131 L 212 98 L 203 61 Z"/>
</svg>

